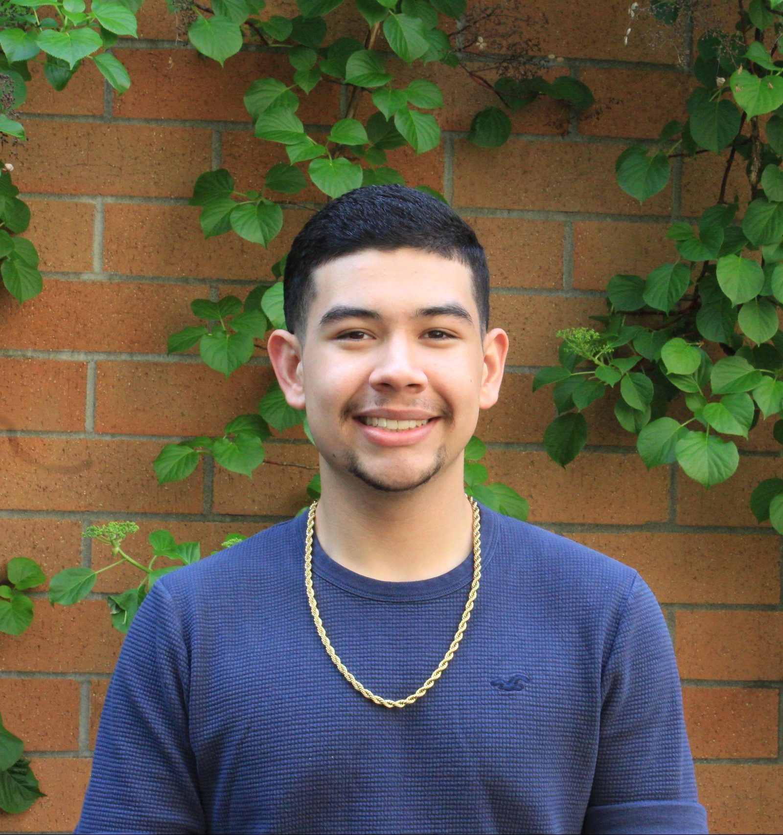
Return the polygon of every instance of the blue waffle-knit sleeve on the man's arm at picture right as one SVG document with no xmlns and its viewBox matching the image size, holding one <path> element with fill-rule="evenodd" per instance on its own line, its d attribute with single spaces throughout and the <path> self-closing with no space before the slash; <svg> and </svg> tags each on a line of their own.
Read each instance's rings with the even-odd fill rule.
<svg viewBox="0 0 783 835">
<path fill-rule="evenodd" d="M 639 574 L 602 675 L 595 775 L 583 833 L 708 832 L 664 614 Z"/>
</svg>

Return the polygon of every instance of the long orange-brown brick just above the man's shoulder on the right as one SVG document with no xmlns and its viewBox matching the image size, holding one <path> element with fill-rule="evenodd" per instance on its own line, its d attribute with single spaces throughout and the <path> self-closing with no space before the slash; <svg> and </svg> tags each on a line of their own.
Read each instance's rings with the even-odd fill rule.
<svg viewBox="0 0 783 835">
<path fill-rule="evenodd" d="M 780 538 L 765 534 L 568 534 L 637 569 L 660 603 L 780 603 Z"/>
</svg>

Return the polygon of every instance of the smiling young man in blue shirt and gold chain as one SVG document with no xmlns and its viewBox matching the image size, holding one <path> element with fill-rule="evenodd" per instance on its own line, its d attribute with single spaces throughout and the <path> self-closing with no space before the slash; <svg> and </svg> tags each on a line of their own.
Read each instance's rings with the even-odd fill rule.
<svg viewBox="0 0 783 835">
<path fill-rule="evenodd" d="M 285 313 L 269 357 L 322 498 L 157 581 L 76 832 L 707 832 L 648 585 L 465 495 L 508 348 L 470 227 L 343 195 Z"/>
</svg>

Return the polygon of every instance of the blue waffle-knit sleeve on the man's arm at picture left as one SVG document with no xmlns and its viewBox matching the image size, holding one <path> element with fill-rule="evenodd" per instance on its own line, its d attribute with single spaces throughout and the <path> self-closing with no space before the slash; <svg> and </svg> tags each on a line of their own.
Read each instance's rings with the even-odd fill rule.
<svg viewBox="0 0 783 835">
<path fill-rule="evenodd" d="M 74 832 L 206 832 L 188 737 L 182 621 L 160 580 L 125 637 Z"/>
</svg>

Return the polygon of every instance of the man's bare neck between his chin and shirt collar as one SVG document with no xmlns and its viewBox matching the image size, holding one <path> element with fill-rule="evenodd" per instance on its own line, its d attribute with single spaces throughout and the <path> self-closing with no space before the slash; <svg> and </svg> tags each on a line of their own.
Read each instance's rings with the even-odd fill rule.
<svg viewBox="0 0 783 835">
<path fill-rule="evenodd" d="M 454 569 L 473 549 L 473 510 L 460 458 L 414 490 L 386 493 L 321 462 L 315 533 L 335 562 L 356 574 L 401 583 Z"/>
</svg>

